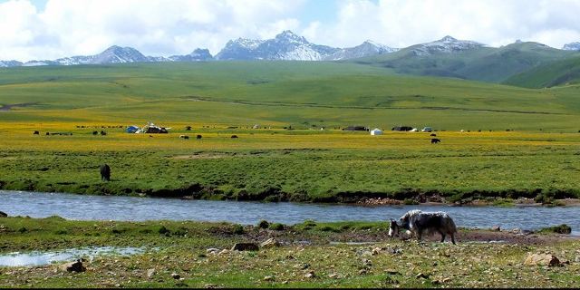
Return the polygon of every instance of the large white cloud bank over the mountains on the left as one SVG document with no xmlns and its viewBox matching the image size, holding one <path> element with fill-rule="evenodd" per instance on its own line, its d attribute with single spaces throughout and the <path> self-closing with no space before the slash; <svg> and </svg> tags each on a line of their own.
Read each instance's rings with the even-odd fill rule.
<svg viewBox="0 0 580 290">
<path fill-rule="evenodd" d="M 0 59 L 54 59 L 100 53 L 112 44 L 144 54 L 218 53 L 230 39 L 297 29 L 304 0 L 27 0 L 0 4 Z"/>
</svg>

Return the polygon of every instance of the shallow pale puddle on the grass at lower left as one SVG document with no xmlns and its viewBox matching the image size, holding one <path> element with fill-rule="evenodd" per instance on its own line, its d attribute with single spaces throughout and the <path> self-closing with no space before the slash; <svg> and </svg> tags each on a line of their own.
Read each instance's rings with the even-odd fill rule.
<svg viewBox="0 0 580 290">
<path fill-rule="evenodd" d="M 8 253 L 0 256 L 0 266 L 43 266 L 54 262 L 73 261 L 81 257 L 131 256 L 146 252 L 144 247 L 82 247 L 53 252 Z"/>
</svg>

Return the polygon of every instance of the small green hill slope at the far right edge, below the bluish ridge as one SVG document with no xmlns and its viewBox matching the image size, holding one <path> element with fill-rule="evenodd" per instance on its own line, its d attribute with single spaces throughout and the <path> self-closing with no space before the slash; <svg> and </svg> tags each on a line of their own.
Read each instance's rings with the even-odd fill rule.
<svg viewBox="0 0 580 290">
<path fill-rule="evenodd" d="M 535 67 L 507 79 L 506 84 L 527 88 L 549 88 L 580 82 L 580 56 Z"/>
</svg>

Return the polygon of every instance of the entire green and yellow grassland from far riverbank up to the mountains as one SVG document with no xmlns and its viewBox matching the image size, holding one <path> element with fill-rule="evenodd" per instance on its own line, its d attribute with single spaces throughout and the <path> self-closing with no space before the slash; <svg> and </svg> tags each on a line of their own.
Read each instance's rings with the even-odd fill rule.
<svg viewBox="0 0 580 290">
<path fill-rule="evenodd" d="M 0 104 L 27 105 L 0 111 L 0 186 L 297 201 L 575 198 L 579 92 L 575 85 L 533 90 L 403 76 L 354 63 L 3 69 Z M 108 128 L 147 121 L 170 133 Z M 349 125 L 388 132 L 338 129 Z M 396 125 L 431 126 L 442 142 L 390 132 Z M 92 135 L 102 130 L 108 135 Z M 105 162 L 111 182 L 98 174 Z"/>
</svg>

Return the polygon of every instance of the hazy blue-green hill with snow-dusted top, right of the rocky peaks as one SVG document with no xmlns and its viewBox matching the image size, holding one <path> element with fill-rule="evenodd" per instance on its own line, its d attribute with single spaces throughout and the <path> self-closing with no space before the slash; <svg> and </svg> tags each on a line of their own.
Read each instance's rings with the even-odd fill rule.
<svg viewBox="0 0 580 290">
<path fill-rule="evenodd" d="M 504 82 L 538 65 L 563 60 L 579 53 L 540 43 L 512 43 L 500 48 L 480 47 L 459 53 L 417 55 L 417 45 L 397 53 L 352 60 L 392 69 L 396 73 L 455 77 L 481 82 Z"/>
</svg>

